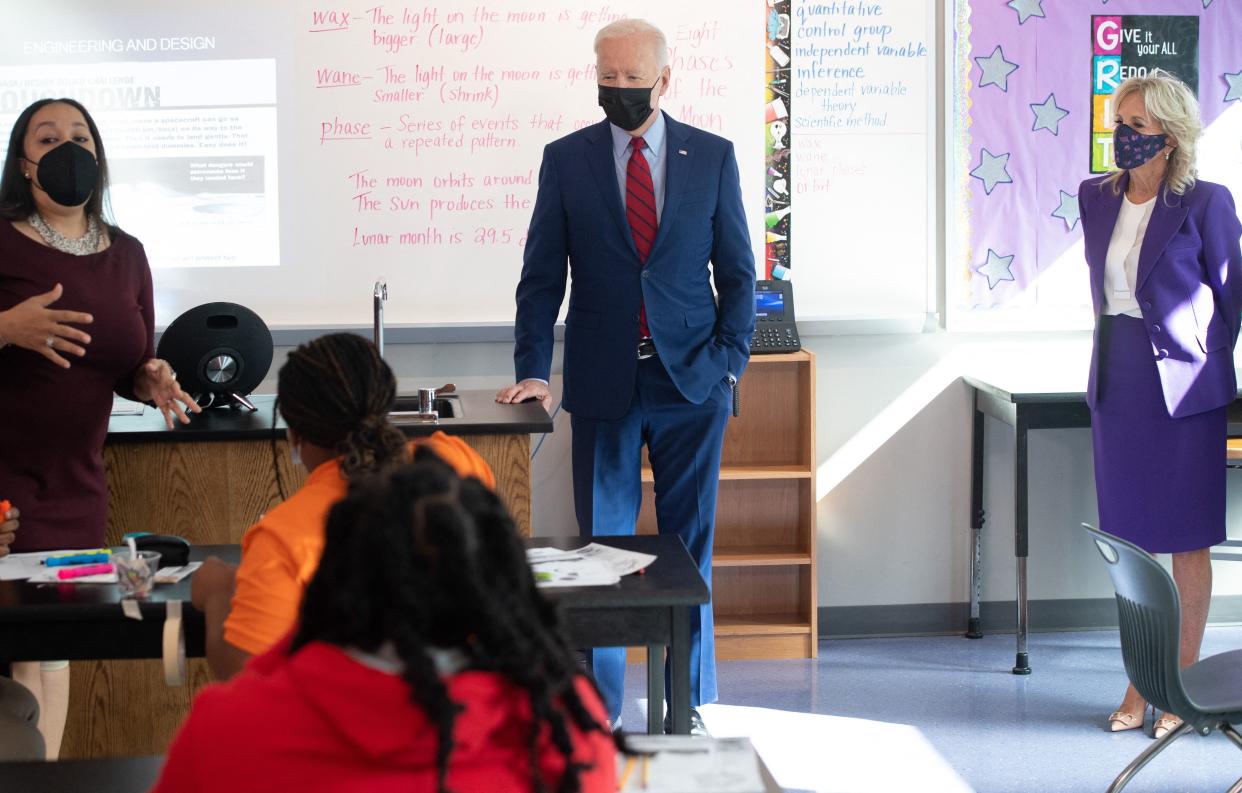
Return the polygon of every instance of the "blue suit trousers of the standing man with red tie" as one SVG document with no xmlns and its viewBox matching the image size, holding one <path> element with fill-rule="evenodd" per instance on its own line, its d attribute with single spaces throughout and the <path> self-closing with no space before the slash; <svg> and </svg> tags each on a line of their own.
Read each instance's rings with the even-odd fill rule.
<svg viewBox="0 0 1242 793">
<path fill-rule="evenodd" d="M 702 404 L 688 401 L 660 362 L 638 362 L 628 411 L 616 420 L 573 416 L 574 511 L 586 536 L 632 534 L 642 503 L 642 446 L 647 446 L 661 534 L 677 534 L 712 587 L 712 541 L 720 447 L 730 390 L 722 379 Z M 595 681 L 609 717 L 621 715 L 625 649 L 591 651 Z M 691 614 L 691 705 L 717 700 L 712 604 Z M 666 681 L 668 670 L 666 667 Z M 666 685 L 666 691 L 667 691 Z M 660 707 L 648 702 L 648 707 Z"/>
</svg>

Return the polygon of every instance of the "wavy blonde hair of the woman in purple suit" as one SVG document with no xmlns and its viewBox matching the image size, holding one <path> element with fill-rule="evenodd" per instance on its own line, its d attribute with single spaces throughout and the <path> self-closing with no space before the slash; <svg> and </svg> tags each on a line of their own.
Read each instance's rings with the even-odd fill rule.
<svg viewBox="0 0 1242 793">
<path fill-rule="evenodd" d="M 1184 83 L 1163 68 L 1154 68 L 1143 77 L 1130 77 L 1113 92 L 1113 107 L 1120 107 L 1131 93 L 1138 93 L 1148 113 L 1160 122 L 1171 143 L 1176 143 L 1169 154 L 1169 169 L 1165 172 L 1165 186 L 1182 195 L 1195 186 L 1197 168 L 1195 149 L 1203 123 L 1199 117 L 1199 99 Z M 1113 193 L 1120 191 L 1122 174 L 1117 172 L 1108 181 Z"/>
</svg>

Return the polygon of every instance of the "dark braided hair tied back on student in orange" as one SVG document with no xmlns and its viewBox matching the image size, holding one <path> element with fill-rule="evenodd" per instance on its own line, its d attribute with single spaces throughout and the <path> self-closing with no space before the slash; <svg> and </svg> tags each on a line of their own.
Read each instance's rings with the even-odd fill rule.
<svg viewBox="0 0 1242 793">
<path fill-rule="evenodd" d="M 299 346 L 276 380 L 276 410 L 301 438 L 340 457 L 348 479 L 406 460 L 406 441 L 388 420 L 396 378 L 375 346 L 355 333 L 328 333 Z M 272 436 L 273 462 L 277 460 Z M 279 465 L 277 487 L 284 497 Z"/>
</svg>

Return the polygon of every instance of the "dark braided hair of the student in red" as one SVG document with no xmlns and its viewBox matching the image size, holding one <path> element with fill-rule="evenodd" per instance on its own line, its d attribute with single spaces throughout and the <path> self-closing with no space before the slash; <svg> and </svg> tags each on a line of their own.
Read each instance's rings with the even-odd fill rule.
<svg viewBox="0 0 1242 793">
<path fill-rule="evenodd" d="M 527 751 L 539 793 L 578 793 L 589 768 L 574 762 L 573 723 L 607 735 L 578 695 L 580 672 L 555 608 L 535 589 L 513 520 L 478 480 L 433 454 L 353 480 L 328 516 L 323 559 L 302 602 L 291 654 L 312 641 L 376 651 L 391 644 L 410 700 L 437 732 L 437 791 L 447 793 L 453 725 L 428 649 L 456 649 L 469 669 L 501 675 L 529 697 Z M 550 737 L 565 772 L 548 787 L 539 747 Z"/>
</svg>

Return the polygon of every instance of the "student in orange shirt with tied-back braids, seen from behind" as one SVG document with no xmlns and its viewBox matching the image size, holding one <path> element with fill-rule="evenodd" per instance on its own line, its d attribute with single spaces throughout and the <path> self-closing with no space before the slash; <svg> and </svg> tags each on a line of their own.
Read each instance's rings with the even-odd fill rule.
<svg viewBox="0 0 1242 793">
<path fill-rule="evenodd" d="M 293 461 L 309 476 L 246 531 L 240 567 L 212 558 L 194 573 L 191 598 L 205 615 L 207 662 L 219 680 L 237 674 L 293 626 L 323 553 L 328 510 L 344 498 L 350 481 L 419 450 L 460 476 L 496 486 L 487 462 L 460 438 L 435 433 L 407 442 L 388 420 L 395 400 L 392 370 L 374 344 L 354 333 L 302 344 L 281 367 L 276 409 L 288 425 Z"/>
</svg>

